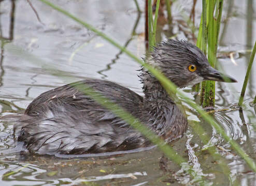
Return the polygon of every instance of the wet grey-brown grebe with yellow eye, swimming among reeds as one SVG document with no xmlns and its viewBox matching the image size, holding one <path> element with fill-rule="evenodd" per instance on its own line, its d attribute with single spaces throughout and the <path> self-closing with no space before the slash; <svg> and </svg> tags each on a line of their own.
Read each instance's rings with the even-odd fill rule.
<svg viewBox="0 0 256 186">
<path fill-rule="evenodd" d="M 159 43 L 146 63 L 162 71 L 178 87 L 205 80 L 236 82 L 212 68 L 205 55 L 187 41 Z M 149 140 L 99 105 L 77 86 L 88 86 L 130 112 L 166 143 L 180 138 L 188 121 L 161 83 L 140 69 L 145 96 L 105 80 L 83 80 L 42 93 L 18 116 L 14 127 L 24 149 L 39 154 L 85 154 L 130 150 Z"/>
</svg>

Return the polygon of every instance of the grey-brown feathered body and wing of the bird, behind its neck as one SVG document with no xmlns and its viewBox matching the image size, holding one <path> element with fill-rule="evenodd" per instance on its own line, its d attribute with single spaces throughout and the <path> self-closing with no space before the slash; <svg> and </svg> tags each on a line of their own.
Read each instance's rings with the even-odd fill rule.
<svg viewBox="0 0 256 186">
<path fill-rule="evenodd" d="M 146 143 L 125 121 L 84 94 L 82 87 L 94 89 L 135 116 L 141 113 L 143 98 L 116 83 L 84 80 L 64 85 L 37 97 L 16 125 L 27 149 L 41 154 L 87 153 L 129 149 L 127 145 L 132 149 Z"/>
</svg>

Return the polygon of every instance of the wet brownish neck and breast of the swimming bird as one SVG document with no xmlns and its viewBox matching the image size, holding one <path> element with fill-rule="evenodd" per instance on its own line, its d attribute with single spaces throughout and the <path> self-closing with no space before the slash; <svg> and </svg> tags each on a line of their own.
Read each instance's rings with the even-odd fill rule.
<svg viewBox="0 0 256 186">
<path fill-rule="evenodd" d="M 180 138 L 188 125 L 183 109 L 174 103 L 161 83 L 149 72 L 142 71 L 140 79 L 144 84 L 147 125 L 166 142 Z"/>
</svg>

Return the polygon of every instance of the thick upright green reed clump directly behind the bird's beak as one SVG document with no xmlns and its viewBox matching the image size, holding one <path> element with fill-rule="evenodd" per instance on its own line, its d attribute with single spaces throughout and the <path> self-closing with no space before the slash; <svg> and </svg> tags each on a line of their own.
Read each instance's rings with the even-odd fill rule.
<svg viewBox="0 0 256 186">
<path fill-rule="evenodd" d="M 204 1 L 205 0 L 203 0 L 203 3 Z M 215 67 L 216 60 L 217 60 L 216 56 L 217 56 L 217 48 L 218 48 L 218 38 L 219 38 L 219 31 L 220 31 L 222 7 L 223 7 L 223 0 L 208 1 L 207 2 L 207 28 L 204 27 L 204 21 L 203 21 L 203 38 L 205 39 L 204 32 L 207 32 L 207 36 L 206 36 L 207 43 L 208 43 L 207 56 L 208 56 L 209 64 L 212 67 Z M 204 12 L 204 8 L 203 8 L 203 12 Z M 203 20 L 204 20 L 204 13 L 203 13 Z M 204 31 L 204 29 L 206 30 Z M 215 105 L 215 81 L 206 81 L 205 83 L 202 83 L 201 100 L 202 100 L 203 107 Z"/>
</svg>

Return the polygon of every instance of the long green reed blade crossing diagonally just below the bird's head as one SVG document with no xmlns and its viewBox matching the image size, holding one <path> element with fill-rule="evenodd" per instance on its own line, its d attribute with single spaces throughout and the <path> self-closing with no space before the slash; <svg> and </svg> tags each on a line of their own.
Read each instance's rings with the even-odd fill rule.
<svg viewBox="0 0 256 186">
<path fill-rule="evenodd" d="M 139 63 L 141 66 L 144 66 L 145 68 L 147 68 L 162 84 L 162 86 L 166 89 L 166 91 L 168 92 L 169 95 L 174 95 L 174 94 L 178 94 L 184 102 L 188 103 L 191 107 L 195 108 L 195 110 L 208 122 L 210 123 L 210 125 L 212 127 L 214 127 L 218 133 L 220 133 L 223 138 L 225 139 L 226 142 L 229 142 L 230 145 L 232 146 L 232 148 L 239 154 L 239 156 L 241 158 L 243 158 L 245 160 L 245 162 L 249 165 L 249 167 L 251 169 L 254 170 L 254 172 L 256 172 L 256 165 L 253 162 L 253 160 L 251 158 L 249 158 L 249 156 L 246 154 L 246 152 L 241 149 L 239 147 L 239 145 L 234 142 L 232 140 L 231 137 L 227 136 L 225 131 L 220 127 L 220 125 L 211 117 L 209 116 L 200 106 L 198 106 L 197 104 L 195 104 L 193 102 L 193 100 L 191 100 L 190 98 L 186 97 L 184 95 L 183 92 L 181 92 L 180 90 L 177 89 L 177 87 L 170 82 L 170 80 L 167 79 L 166 76 L 164 76 L 159 70 L 154 69 L 152 66 L 144 63 L 143 61 L 141 61 L 140 59 L 138 59 L 134 54 L 132 54 L 130 51 L 128 51 L 127 49 L 123 48 L 120 44 L 118 44 L 117 42 L 115 42 L 114 40 L 112 40 L 111 38 L 109 38 L 107 35 L 105 35 L 104 33 L 100 32 L 99 30 L 97 30 L 96 28 L 94 28 L 92 25 L 81 21 L 80 19 L 76 18 L 74 15 L 70 14 L 69 12 L 67 12 L 64 9 L 61 9 L 57 6 L 55 6 L 54 4 L 46 1 L 46 0 L 39 0 L 43 3 L 45 3 L 46 5 L 52 7 L 55 10 L 58 10 L 59 12 L 65 14 L 67 17 L 73 19 L 74 21 L 80 23 L 81 25 L 83 25 L 84 27 L 92 30 L 93 32 L 95 32 L 98 36 L 101 36 L 102 38 L 104 38 L 106 41 L 110 42 L 111 44 L 113 44 L 114 46 L 116 46 L 117 48 L 119 48 L 120 50 L 122 50 L 124 53 L 126 53 L 128 56 L 130 56 L 131 58 L 133 58 L 137 63 Z M 174 99 L 175 102 L 177 102 L 176 99 Z M 122 118 L 125 119 L 125 118 Z"/>
</svg>

